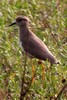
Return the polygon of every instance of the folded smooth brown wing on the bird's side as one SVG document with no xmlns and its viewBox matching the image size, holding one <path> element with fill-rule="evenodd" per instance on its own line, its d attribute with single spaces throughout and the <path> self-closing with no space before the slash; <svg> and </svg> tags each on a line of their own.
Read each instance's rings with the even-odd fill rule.
<svg viewBox="0 0 67 100">
<path fill-rule="evenodd" d="M 28 53 L 33 55 L 38 59 L 48 59 L 48 55 L 50 55 L 50 51 L 47 46 L 34 34 L 29 37 L 28 42 Z"/>
</svg>

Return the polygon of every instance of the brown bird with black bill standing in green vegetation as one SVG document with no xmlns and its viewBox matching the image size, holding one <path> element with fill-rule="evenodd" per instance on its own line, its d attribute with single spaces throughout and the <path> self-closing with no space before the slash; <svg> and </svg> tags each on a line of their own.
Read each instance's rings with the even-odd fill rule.
<svg viewBox="0 0 67 100">
<path fill-rule="evenodd" d="M 30 20 L 27 16 L 18 16 L 15 21 L 9 25 L 9 27 L 13 25 L 17 25 L 19 27 L 19 40 L 24 52 L 31 59 L 37 58 L 41 61 L 48 60 L 50 65 L 57 64 L 58 62 L 56 58 L 48 49 L 48 47 L 29 29 L 29 22 Z"/>
</svg>

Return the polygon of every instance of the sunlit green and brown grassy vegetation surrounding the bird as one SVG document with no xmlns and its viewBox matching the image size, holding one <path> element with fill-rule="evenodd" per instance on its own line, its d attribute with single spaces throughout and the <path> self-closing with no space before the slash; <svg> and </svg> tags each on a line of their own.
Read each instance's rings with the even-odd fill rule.
<svg viewBox="0 0 67 100">
<path fill-rule="evenodd" d="M 59 93 L 57 100 L 67 100 L 67 88 L 60 92 L 67 84 L 66 3 L 67 0 L 0 0 L 0 100 L 19 100 L 21 84 L 25 86 L 24 100 L 55 100 Z M 36 73 L 31 83 L 32 66 L 30 59 L 25 60 L 22 54 L 18 29 L 7 27 L 18 15 L 29 17 L 31 30 L 61 62 L 51 69 L 49 62 L 44 62 L 44 82 L 42 66 L 34 59 Z"/>
</svg>

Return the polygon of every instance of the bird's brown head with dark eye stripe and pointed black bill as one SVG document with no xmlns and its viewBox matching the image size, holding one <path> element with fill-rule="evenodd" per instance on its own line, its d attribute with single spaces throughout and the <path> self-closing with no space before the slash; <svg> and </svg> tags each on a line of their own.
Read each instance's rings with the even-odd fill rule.
<svg viewBox="0 0 67 100">
<path fill-rule="evenodd" d="M 16 18 L 16 20 L 12 23 L 12 24 L 10 24 L 9 26 L 12 26 L 12 25 L 18 25 L 19 27 L 24 27 L 24 26 L 27 26 L 28 25 L 28 23 L 29 23 L 29 19 L 26 17 L 26 16 L 18 16 L 17 18 Z"/>
</svg>

